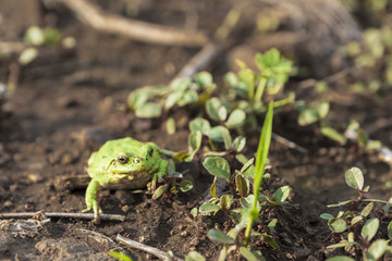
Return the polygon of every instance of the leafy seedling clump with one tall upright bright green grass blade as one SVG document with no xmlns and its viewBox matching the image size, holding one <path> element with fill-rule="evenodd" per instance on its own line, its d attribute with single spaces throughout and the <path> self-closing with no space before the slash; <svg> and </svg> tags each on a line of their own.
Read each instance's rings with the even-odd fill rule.
<svg viewBox="0 0 392 261">
<path fill-rule="evenodd" d="M 210 187 L 212 199 L 199 207 L 199 213 L 206 215 L 223 211 L 230 216 L 231 222 L 234 224 L 234 227 L 228 233 L 210 229 L 208 236 L 222 244 L 236 244 L 243 257 L 253 257 L 254 260 L 259 260 L 262 256 L 260 251 L 250 251 L 246 248 L 252 236 L 259 236 L 269 246 L 279 248 L 270 235 L 273 234 L 277 220 L 261 221 L 259 219 L 260 211 L 267 211 L 270 207 L 283 203 L 290 194 L 289 186 L 277 189 L 272 196 L 260 194 L 272 133 L 272 117 L 273 102 L 270 102 L 260 134 L 256 165 L 254 165 L 254 159 L 246 160 L 240 171 L 232 172 L 228 160 L 220 156 L 208 156 L 203 162 L 205 169 L 215 176 L 215 179 Z M 201 126 L 204 125 L 197 124 L 197 132 L 201 133 L 200 129 L 203 129 Z M 245 156 L 240 153 L 236 158 L 241 159 L 242 157 Z M 216 183 L 218 178 L 226 181 L 231 191 L 230 194 L 223 194 L 220 197 L 217 196 Z M 252 186 L 253 194 L 250 194 Z M 253 231 L 254 223 L 259 223 L 261 227 L 265 228 L 259 228 L 261 231 L 258 232 Z M 243 235 L 243 237 L 240 235 Z M 221 251 L 222 257 L 225 257 L 225 249 L 224 247 Z"/>
</svg>

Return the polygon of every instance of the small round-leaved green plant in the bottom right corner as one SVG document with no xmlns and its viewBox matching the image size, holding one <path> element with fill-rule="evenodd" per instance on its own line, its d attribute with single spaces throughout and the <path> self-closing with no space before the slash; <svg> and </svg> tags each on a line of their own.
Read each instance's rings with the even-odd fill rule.
<svg viewBox="0 0 392 261">
<path fill-rule="evenodd" d="M 389 223 L 387 234 L 389 239 L 378 238 L 373 240 L 380 228 L 380 223 L 388 217 L 392 204 L 392 198 L 387 202 L 378 199 L 364 199 L 364 194 L 369 190 L 369 186 L 364 188 L 364 175 L 358 167 L 352 167 L 345 173 L 346 184 L 356 189 L 358 197 L 353 200 L 346 200 L 336 204 L 328 207 L 342 207 L 351 204 L 346 211 L 340 211 L 336 216 L 329 213 L 320 215 L 321 219 L 328 220 L 328 226 L 333 233 L 345 233 L 346 237 L 342 235 L 342 240 L 338 244 L 328 246 L 327 248 L 344 248 L 348 253 L 355 253 L 360 250 L 365 261 L 379 260 L 384 254 L 392 253 L 392 222 Z M 360 202 L 369 202 L 362 210 L 354 210 L 355 204 Z M 377 216 L 375 212 L 375 203 L 383 203 L 381 216 Z M 360 228 L 362 227 L 362 228 Z M 354 260 L 350 257 L 339 256 L 328 260 Z"/>
</svg>

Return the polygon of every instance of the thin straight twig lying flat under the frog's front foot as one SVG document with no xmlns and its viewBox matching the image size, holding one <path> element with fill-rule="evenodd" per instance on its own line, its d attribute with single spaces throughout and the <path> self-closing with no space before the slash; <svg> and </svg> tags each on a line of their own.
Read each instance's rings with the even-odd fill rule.
<svg viewBox="0 0 392 261">
<path fill-rule="evenodd" d="M 94 220 L 94 213 L 61 213 L 61 212 L 44 212 L 47 217 L 66 217 L 66 219 L 82 219 Z M 26 219 L 33 217 L 37 212 L 21 212 L 21 213 L 0 213 L 0 219 Z M 99 214 L 100 220 L 117 220 L 124 221 L 125 215 L 118 214 Z"/>
</svg>

